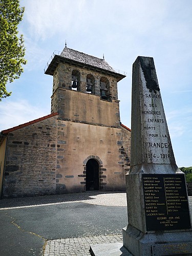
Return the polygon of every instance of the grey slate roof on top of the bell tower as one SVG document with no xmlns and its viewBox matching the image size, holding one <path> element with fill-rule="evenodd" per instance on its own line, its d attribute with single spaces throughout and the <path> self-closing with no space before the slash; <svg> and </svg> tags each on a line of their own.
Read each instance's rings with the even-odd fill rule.
<svg viewBox="0 0 192 256">
<path fill-rule="evenodd" d="M 83 52 L 78 52 L 67 47 L 62 50 L 60 56 L 116 73 L 116 71 L 104 59 L 100 59 Z"/>
</svg>

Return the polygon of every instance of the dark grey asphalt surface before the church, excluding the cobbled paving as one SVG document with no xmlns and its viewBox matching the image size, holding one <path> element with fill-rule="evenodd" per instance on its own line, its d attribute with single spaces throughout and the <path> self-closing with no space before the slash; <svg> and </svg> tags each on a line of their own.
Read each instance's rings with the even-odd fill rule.
<svg viewBox="0 0 192 256">
<path fill-rule="evenodd" d="M 28 202 L 26 207 L 16 207 L 23 208 L 0 210 L 3 256 L 42 255 L 46 240 L 121 234 L 127 225 L 126 206 L 66 202 L 31 207 Z"/>
</svg>

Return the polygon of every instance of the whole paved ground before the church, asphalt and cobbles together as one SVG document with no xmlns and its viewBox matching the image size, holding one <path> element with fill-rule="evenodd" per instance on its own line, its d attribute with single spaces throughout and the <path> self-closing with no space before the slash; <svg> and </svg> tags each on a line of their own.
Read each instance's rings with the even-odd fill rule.
<svg viewBox="0 0 192 256">
<path fill-rule="evenodd" d="M 125 193 L 3 199 L 1 255 L 86 256 L 90 244 L 122 242 L 126 224 Z"/>
</svg>

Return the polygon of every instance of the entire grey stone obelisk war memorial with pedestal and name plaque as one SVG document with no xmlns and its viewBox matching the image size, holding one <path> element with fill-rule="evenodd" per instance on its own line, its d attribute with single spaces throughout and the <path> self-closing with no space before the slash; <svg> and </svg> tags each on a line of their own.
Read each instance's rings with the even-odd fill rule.
<svg viewBox="0 0 192 256">
<path fill-rule="evenodd" d="M 151 57 L 133 64 L 131 129 L 123 246 L 138 256 L 192 255 L 185 177 L 176 165 Z"/>
</svg>

